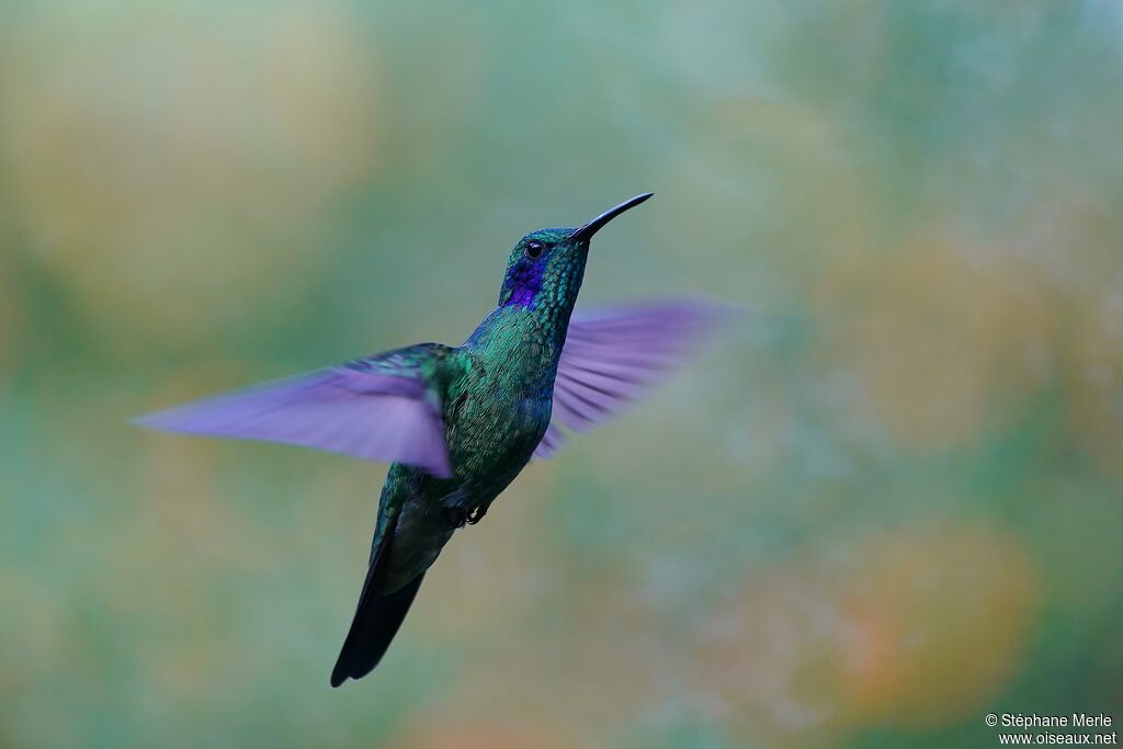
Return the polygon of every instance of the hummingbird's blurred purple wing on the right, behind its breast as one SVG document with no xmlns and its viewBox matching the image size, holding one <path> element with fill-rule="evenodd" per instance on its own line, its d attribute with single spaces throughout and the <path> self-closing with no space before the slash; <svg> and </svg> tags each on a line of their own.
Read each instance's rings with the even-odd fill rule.
<svg viewBox="0 0 1123 749">
<path fill-rule="evenodd" d="M 574 314 L 554 381 L 554 411 L 536 458 L 565 441 L 562 426 L 586 431 L 664 380 L 720 327 L 728 310 L 669 301 Z"/>
</svg>

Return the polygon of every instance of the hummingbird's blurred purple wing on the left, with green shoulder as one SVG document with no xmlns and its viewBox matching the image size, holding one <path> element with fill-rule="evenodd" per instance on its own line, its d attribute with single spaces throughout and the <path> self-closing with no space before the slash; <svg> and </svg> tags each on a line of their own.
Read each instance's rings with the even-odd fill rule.
<svg viewBox="0 0 1123 749">
<path fill-rule="evenodd" d="M 188 435 L 301 445 L 451 473 L 433 373 L 450 350 L 422 344 L 158 411 L 134 421 Z"/>
</svg>

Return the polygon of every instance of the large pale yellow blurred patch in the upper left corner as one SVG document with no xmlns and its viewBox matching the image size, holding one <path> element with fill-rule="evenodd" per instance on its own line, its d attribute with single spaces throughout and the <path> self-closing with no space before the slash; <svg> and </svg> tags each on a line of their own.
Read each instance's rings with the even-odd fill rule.
<svg viewBox="0 0 1123 749">
<path fill-rule="evenodd" d="M 323 263 L 322 212 L 375 166 L 377 65 L 349 11 L 258 11 L 46 4 L 10 39 L 0 186 L 122 345 L 284 304 Z"/>
</svg>

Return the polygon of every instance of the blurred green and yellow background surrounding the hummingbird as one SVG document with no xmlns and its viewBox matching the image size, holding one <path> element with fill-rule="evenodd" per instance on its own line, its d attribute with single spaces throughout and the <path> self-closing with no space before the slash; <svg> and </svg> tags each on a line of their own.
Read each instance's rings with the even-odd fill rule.
<svg viewBox="0 0 1123 749">
<path fill-rule="evenodd" d="M 995 746 L 1123 720 L 1123 6 L 0 7 L 0 746 Z M 328 673 L 383 466 L 130 415 L 582 303 L 751 305 Z"/>
</svg>

